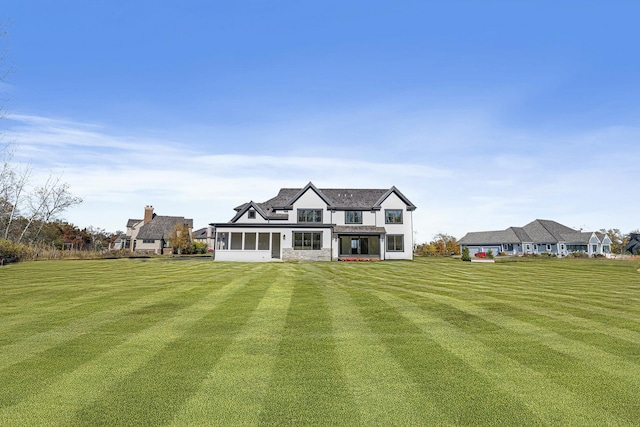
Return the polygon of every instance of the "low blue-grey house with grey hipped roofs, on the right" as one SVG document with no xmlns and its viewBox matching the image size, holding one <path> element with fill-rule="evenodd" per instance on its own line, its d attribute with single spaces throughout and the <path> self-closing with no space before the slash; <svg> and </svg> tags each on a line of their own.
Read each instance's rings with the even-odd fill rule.
<svg viewBox="0 0 640 427">
<path fill-rule="evenodd" d="M 574 230 L 555 221 L 536 219 L 524 227 L 499 231 L 467 233 L 458 241 L 460 249 L 469 248 L 471 256 L 478 252 L 507 255 L 549 253 L 565 256 L 583 252 L 589 256 L 611 253 L 611 239 L 599 232 Z"/>
</svg>

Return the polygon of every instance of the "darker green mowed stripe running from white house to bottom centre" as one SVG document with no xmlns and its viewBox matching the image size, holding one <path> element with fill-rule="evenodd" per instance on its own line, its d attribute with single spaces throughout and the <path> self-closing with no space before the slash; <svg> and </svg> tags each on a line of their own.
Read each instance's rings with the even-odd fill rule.
<svg viewBox="0 0 640 427">
<path fill-rule="evenodd" d="M 340 364 L 323 285 L 305 264 L 292 266 L 291 305 L 260 424 L 357 424 L 359 411 Z"/>
</svg>

